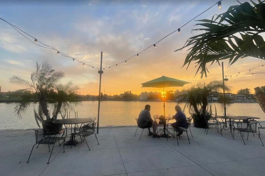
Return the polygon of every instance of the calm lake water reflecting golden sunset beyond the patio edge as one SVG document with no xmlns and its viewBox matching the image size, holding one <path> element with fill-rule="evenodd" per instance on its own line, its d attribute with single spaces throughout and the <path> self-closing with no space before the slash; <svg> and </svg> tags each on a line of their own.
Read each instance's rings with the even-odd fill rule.
<svg viewBox="0 0 265 176">
<path fill-rule="evenodd" d="M 33 103 L 28 107 L 27 112 L 18 118 L 13 108 L 16 103 L 0 103 L 0 130 L 10 129 L 32 129 L 38 128 L 34 119 Z M 151 105 L 151 116 L 163 114 L 163 102 L 137 102 L 137 101 L 103 101 L 100 103 L 99 126 L 132 126 L 136 125 L 135 118 L 139 112 L 144 109 L 145 104 Z M 176 102 L 165 102 L 166 116 L 175 114 Z M 218 103 L 216 105 L 217 115 L 223 114 L 223 108 Z M 183 108 L 185 103 L 180 106 Z M 214 106 L 213 106 L 214 110 Z M 83 101 L 82 105 L 75 108 L 78 112 L 78 118 L 98 117 L 98 102 Z M 189 116 L 188 111 L 185 111 Z M 213 112 L 215 114 L 215 112 Z M 258 103 L 233 103 L 227 107 L 227 113 L 233 115 L 255 116 L 260 117 L 260 121 L 265 121 L 265 113 Z M 70 118 L 74 118 L 74 112 L 70 113 Z M 60 117 L 58 118 L 60 119 Z"/>
</svg>

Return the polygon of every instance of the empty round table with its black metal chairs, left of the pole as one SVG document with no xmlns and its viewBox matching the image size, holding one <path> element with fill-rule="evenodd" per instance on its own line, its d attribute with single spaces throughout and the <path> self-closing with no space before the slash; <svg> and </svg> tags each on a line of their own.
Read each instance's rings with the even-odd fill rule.
<svg viewBox="0 0 265 176">
<path fill-rule="evenodd" d="M 61 146 L 61 144 L 63 144 L 63 148 L 64 145 L 75 145 L 80 143 L 80 142 L 86 142 L 86 136 L 90 136 L 92 134 L 95 135 L 96 140 L 98 142 L 98 138 L 96 136 L 95 133 L 95 126 L 96 126 L 96 122 L 95 122 L 95 117 L 89 117 L 89 118 L 69 118 L 69 119 L 60 119 L 60 120 L 54 120 L 52 121 L 52 123 L 54 124 L 62 124 L 65 126 L 65 129 L 56 129 L 53 127 L 50 127 L 50 129 L 34 129 L 35 131 L 35 137 L 36 137 L 36 143 L 33 145 L 32 150 L 34 148 L 34 146 L 36 144 L 38 144 L 38 146 L 40 144 L 48 144 L 48 148 L 49 148 L 49 152 L 53 151 L 54 145 L 56 142 L 59 142 L 59 146 Z M 42 122 L 45 123 L 45 122 Z M 80 126 L 78 126 L 78 124 L 80 124 Z M 45 124 L 47 126 L 47 124 Z M 71 132 L 70 134 L 67 135 L 67 126 L 66 125 L 71 125 Z M 48 125 L 51 126 L 51 125 Z M 81 141 L 76 140 L 76 137 L 79 136 Z M 66 137 L 70 137 L 69 141 L 66 141 Z M 60 141 L 63 141 L 62 143 L 60 143 Z M 52 146 L 52 150 L 50 150 L 50 145 Z M 98 142 L 99 145 L 99 142 Z M 37 148 L 38 148 L 37 146 Z M 87 144 L 87 147 L 89 148 L 89 145 Z M 32 150 L 30 152 L 29 158 L 32 154 Z M 90 150 L 90 148 L 89 148 Z M 65 152 L 65 150 L 63 151 Z M 48 160 L 50 161 L 51 158 L 51 154 Z M 29 159 L 27 161 L 27 163 L 29 162 Z"/>
</svg>

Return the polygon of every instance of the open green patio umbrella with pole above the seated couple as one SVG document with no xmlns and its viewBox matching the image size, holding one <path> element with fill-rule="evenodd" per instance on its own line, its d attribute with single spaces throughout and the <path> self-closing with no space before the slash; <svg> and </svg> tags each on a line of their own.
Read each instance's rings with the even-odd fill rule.
<svg viewBox="0 0 265 176">
<path fill-rule="evenodd" d="M 169 78 L 162 76 L 160 78 L 153 79 L 151 81 L 142 83 L 142 87 L 157 87 L 157 88 L 163 88 L 163 100 L 164 100 L 164 117 L 165 117 L 165 87 L 182 87 L 185 84 L 188 84 L 190 82 L 182 81 L 179 79 Z"/>
</svg>

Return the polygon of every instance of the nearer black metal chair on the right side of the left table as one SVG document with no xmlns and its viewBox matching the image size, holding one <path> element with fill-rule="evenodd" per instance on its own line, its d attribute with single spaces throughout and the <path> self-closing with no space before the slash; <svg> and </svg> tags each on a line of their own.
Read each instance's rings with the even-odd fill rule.
<svg viewBox="0 0 265 176">
<path fill-rule="evenodd" d="M 76 135 L 81 137 L 81 142 L 82 141 L 84 142 L 84 140 L 86 141 L 86 138 L 85 138 L 86 136 L 90 136 L 90 135 L 94 134 L 96 137 L 96 140 L 98 142 L 98 145 L 99 145 L 99 141 L 98 141 L 98 138 L 97 138 L 96 132 L 95 132 L 96 124 L 97 123 L 94 122 L 94 123 L 89 123 L 89 124 L 80 126 L 80 130 L 79 130 L 79 132 L 76 133 Z M 90 148 L 87 144 L 87 141 L 86 141 L 86 145 L 87 145 L 88 149 L 90 150 Z"/>
</svg>

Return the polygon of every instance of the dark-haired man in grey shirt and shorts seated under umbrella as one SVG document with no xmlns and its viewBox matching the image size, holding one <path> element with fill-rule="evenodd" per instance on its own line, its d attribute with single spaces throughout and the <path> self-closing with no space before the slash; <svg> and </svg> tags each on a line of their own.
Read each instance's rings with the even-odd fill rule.
<svg viewBox="0 0 265 176">
<path fill-rule="evenodd" d="M 137 125 L 141 128 L 148 128 L 148 135 L 153 137 L 159 137 L 156 134 L 157 122 L 153 121 L 150 114 L 151 106 L 149 104 L 145 105 L 144 110 L 139 114 Z M 153 126 L 153 133 L 150 130 L 150 127 Z"/>
</svg>

